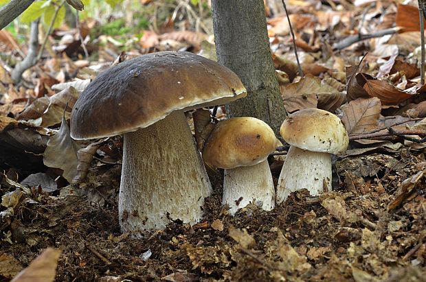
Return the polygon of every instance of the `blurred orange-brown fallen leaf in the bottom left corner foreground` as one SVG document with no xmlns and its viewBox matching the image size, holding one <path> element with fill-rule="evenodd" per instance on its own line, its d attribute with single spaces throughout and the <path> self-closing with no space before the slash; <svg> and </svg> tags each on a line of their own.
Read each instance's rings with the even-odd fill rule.
<svg viewBox="0 0 426 282">
<path fill-rule="evenodd" d="M 49 282 L 54 281 L 60 250 L 47 248 L 30 263 L 30 266 L 19 272 L 10 282 Z"/>
</svg>

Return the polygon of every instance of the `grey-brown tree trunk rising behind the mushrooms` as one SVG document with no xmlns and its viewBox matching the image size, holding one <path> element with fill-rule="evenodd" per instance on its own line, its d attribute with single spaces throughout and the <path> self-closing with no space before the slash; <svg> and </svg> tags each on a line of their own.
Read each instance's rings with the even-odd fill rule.
<svg viewBox="0 0 426 282">
<path fill-rule="evenodd" d="M 271 58 L 262 0 L 212 0 L 219 64 L 238 75 L 247 97 L 226 106 L 229 117 L 257 117 L 280 136 L 287 113 Z"/>
</svg>

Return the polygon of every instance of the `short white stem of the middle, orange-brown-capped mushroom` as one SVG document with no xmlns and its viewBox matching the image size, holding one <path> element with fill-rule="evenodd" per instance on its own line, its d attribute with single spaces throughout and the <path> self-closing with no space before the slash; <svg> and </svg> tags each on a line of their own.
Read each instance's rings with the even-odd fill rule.
<svg viewBox="0 0 426 282">
<path fill-rule="evenodd" d="M 275 189 L 266 160 L 257 165 L 225 169 L 222 203 L 229 205 L 229 213 L 234 215 L 250 202 L 261 203 L 266 211 L 275 207 Z"/>
</svg>

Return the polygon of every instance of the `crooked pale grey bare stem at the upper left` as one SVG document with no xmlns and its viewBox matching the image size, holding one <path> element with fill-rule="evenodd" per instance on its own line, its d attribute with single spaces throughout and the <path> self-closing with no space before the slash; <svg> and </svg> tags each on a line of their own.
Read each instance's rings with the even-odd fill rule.
<svg viewBox="0 0 426 282">
<path fill-rule="evenodd" d="M 28 53 L 25 58 L 16 64 L 14 67 L 11 77 L 14 84 L 21 82 L 22 73 L 30 67 L 34 66 L 37 62 L 37 48 L 38 48 L 38 23 L 40 19 L 33 21 L 31 23 L 31 31 L 30 31 L 30 46 L 28 48 Z"/>
</svg>

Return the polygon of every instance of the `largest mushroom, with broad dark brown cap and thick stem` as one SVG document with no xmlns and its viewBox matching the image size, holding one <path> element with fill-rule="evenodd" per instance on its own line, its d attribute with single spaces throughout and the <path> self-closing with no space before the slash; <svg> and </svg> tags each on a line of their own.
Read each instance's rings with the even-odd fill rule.
<svg viewBox="0 0 426 282">
<path fill-rule="evenodd" d="M 71 137 L 124 133 L 122 232 L 142 237 L 170 220 L 201 220 L 212 187 L 183 112 L 244 96 L 235 73 L 189 52 L 139 56 L 87 86 L 71 113 Z"/>
</svg>

